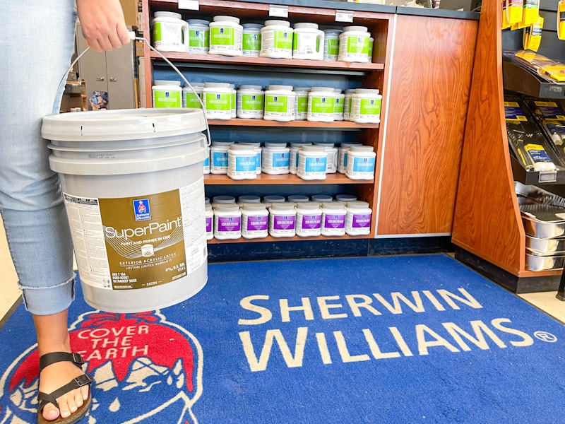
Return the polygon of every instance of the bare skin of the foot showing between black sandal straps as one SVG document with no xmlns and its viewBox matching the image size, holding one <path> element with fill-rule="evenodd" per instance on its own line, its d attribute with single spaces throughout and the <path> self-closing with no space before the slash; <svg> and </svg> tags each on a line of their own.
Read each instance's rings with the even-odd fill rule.
<svg viewBox="0 0 565 424">
<path fill-rule="evenodd" d="M 40 375 L 40 391 L 52 393 L 70 382 L 73 378 L 83 375 L 83 371 L 71 362 L 59 362 L 49 365 L 42 370 Z M 74 389 L 57 399 L 62 418 L 67 418 L 71 413 L 80 408 L 88 399 L 88 385 Z M 52 421 L 59 417 L 59 409 L 54 404 L 47 404 L 43 408 L 43 418 Z"/>
</svg>

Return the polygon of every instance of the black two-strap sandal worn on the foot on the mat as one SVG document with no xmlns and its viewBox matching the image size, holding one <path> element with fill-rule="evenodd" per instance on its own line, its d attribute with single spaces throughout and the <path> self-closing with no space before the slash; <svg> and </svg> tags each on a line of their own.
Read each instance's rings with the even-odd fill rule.
<svg viewBox="0 0 565 424">
<path fill-rule="evenodd" d="M 78 353 L 68 353 L 68 352 L 52 352 L 46 353 L 40 357 L 40 373 L 47 367 L 48 365 L 62 362 L 62 361 L 69 361 L 76 365 L 77 367 L 83 369 L 83 358 Z M 69 383 L 65 384 L 63 387 L 52 391 L 51 393 L 43 393 L 40 391 L 37 394 L 37 401 L 39 402 L 39 406 L 37 408 L 37 423 L 39 424 L 73 424 L 76 423 L 78 420 L 83 418 L 88 412 L 90 408 L 90 404 L 92 403 L 92 396 L 90 395 L 90 390 L 88 391 L 88 399 L 84 401 L 83 406 L 78 408 L 75 412 L 71 413 L 70 416 L 67 418 L 59 418 L 56 420 L 46 420 L 42 416 L 43 408 L 47 404 L 54 404 L 59 409 L 59 404 L 57 403 L 57 398 L 63 396 L 64 394 L 68 393 L 71 390 L 78 389 L 79 387 L 83 387 L 86 384 L 92 384 L 94 380 L 90 377 L 90 375 L 83 374 L 79 375 L 78 377 L 72 379 Z"/>
</svg>

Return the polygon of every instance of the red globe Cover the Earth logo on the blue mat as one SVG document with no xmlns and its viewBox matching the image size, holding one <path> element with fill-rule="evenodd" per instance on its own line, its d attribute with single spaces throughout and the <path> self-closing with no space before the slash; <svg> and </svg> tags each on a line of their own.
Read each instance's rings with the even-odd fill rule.
<svg viewBox="0 0 565 424">
<path fill-rule="evenodd" d="M 91 311 L 71 326 L 71 346 L 95 379 L 88 424 L 198 424 L 192 406 L 202 394 L 202 348 L 160 312 Z M 0 379 L 0 423 L 37 423 L 37 345 Z"/>
</svg>

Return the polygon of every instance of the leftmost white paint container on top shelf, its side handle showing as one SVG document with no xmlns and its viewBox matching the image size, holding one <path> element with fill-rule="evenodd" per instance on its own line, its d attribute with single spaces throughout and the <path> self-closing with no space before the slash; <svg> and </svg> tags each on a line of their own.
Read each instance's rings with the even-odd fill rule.
<svg viewBox="0 0 565 424">
<path fill-rule="evenodd" d="M 175 12 L 155 12 L 153 20 L 153 47 L 160 52 L 189 51 L 189 24 Z"/>
</svg>

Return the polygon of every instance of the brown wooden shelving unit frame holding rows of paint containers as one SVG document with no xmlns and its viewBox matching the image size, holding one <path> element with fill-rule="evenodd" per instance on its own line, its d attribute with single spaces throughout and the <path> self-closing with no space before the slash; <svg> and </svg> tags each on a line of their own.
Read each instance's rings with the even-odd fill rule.
<svg viewBox="0 0 565 424">
<path fill-rule="evenodd" d="M 330 3 L 330 2 L 327 2 Z M 154 11 L 177 11 L 183 14 L 183 18 L 206 18 L 210 19 L 217 15 L 237 16 L 242 22 L 258 21 L 269 19 L 269 4 L 246 2 L 246 1 L 216 1 L 216 0 L 199 0 L 198 11 L 179 11 L 178 2 L 175 0 L 143 0 L 143 37 L 150 40 L 150 17 Z M 351 76 L 356 78 L 355 81 L 359 82 L 359 86 L 365 88 L 379 88 L 383 95 L 383 102 L 381 108 L 381 116 L 386 110 L 386 90 L 387 86 L 385 81 L 388 81 L 388 69 L 386 61 L 388 54 L 390 54 L 390 42 L 392 40 L 391 20 L 393 14 L 391 13 L 374 13 L 366 11 L 355 11 L 353 15 L 353 23 L 340 23 L 335 21 L 336 8 L 338 6 L 346 6 L 335 4 L 335 8 L 317 8 L 317 7 L 304 7 L 304 6 L 287 6 L 288 18 L 292 23 L 294 22 L 315 22 L 319 25 L 347 26 L 347 25 L 365 25 L 369 27 L 371 36 L 374 37 L 374 54 L 371 63 L 346 63 L 340 61 L 311 61 L 311 60 L 297 60 L 297 59 L 268 59 L 263 57 L 226 57 L 218 54 L 189 54 L 189 53 L 165 53 L 165 57 L 172 61 L 176 66 L 184 70 L 206 70 L 213 68 L 220 69 L 218 72 L 224 72 L 227 75 L 230 72 L 237 71 L 254 71 L 261 70 L 267 72 L 268 75 L 276 76 L 277 73 L 302 73 L 304 78 L 311 79 L 311 86 L 319 85 L 318 73 L 323 73 L 326 76 L 338 76 L 339 78 L 347 78 Z M 272 18 L 272 17 L 271 17 Z M 159 66 L 167 66 L 165 61 L 159 54 L 151 52 L 145 46 L 145 57 L 149 60 L 145 61 L 145 75 L 153 75 L 153 69 Z M 235 81 L 231 81 L 235 82 Z M 150 105 L 151 99 L 151 78 L 145 81 L 146 104 Z M 276 122 L 264 119 L 229 119 L 218 120 L 211 119 L 208 124 L 210 131 L 214 135 L 215 131 L 222 129 L 226 131 L 233 131 L 232 129 L 241 129 L 242 131 L 261 131 L 261 129 L 290 129 L 292 131 L 309 131 L 308 134 L 316 134 L 315 131 L 355 131 L 356 138 L 369 146 L 373 146 L 375 151 L 379 148 L 379 142 L 382 134 L 379 131 L 379 124 L 356 124 L 354 122 L 308 122 L 308 121 L 292 121 L 292 122 Z M 314 131 L 314 132 L 312 132 Z M 281 132 L 284 137 L 284 132 Z M 379 170 L 375 170 L 375 175 L 379 175 Z M 376 179 L 370 180 L 352 180 L 345 175 L 336 173 L 328 174 L 324 180 L 305 181 L 296 175 L 258 175 L 256 179 L 250 180 L 233 180 L 226 175 L 206 175 L 204 182 L 208 189 L 221 189 L 225 186 L 225 194 L 230 193 L 230 189 L 237 189 L 239 186 L 248 187 L 249 189 L 257 188 L 261 190 L 264 187 L 268 191 L 268 187 L 285 187 L 288 186 L 289 194 L 296 189 L 297 185 L 309 187 L 313 192 L 316 187 L 326 187 L 331 190 L 335 185 L 338 187 L 350 187 L 358 199 L 369 202 L 369 205 L 376 211 L 377 196 L 376 196 Z M 336 191 L 335 194 L 338 194 Z M 375 213 L 373 214 L 373 222 L 371 225 L 371 234 L 360 237 L 340 237 L 343 238 L 372 238 L 374 237 L 375 228 Z M 331 240 L 332 237 L 267 237 L 266 239 L 251 239 L 246 240 L 240 238 L 238 240 L 221 240 L 221 243 L 233 242 L 278 242 L 287 240 Z M 217 244 L 217 240 L 211 240 L 211 244 Z"/>
</svg>

